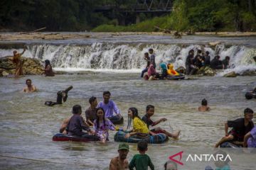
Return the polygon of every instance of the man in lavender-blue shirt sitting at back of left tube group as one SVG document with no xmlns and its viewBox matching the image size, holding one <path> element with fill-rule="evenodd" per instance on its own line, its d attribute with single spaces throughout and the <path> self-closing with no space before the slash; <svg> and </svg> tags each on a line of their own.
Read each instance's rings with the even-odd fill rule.
<svg viewBox="0 0 256 170">
<path fill-rule="evenodd" d="M 114 101 L 110 100 L 110 91 L 104 91 L 103 92 L 103 101 L 100 101 L 98 103 L 97 108 L 103 108 L 105 111 L 105 118 L 114 118 L 115 116 L 113 115 L 114 113 L 117 114 L 118 118 L 121 118 L 121 114 L 119 111 L 119 108 L 117 107 L 116 103 Z"/>
</svg>

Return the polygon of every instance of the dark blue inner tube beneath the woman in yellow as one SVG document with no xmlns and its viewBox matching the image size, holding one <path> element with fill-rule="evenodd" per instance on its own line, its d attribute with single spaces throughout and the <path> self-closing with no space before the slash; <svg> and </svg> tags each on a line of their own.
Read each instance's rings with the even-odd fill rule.
<svg viewBox="0 0 256 170">
<path fill-rule="evenodd" d="M 124 131 L 118 131 L 114 135 L 114 141 L 115 142 L 128 142 L 128 143 L 137 143 L 139 141 L 146 141 L 150 144 L 161 144 L 169 140 L 169 137 L 167 137 L 164 133 L 159 133 L 154 136 L 148 135 L 146 137 L 138 137 L 138 136 L 132 136 L 125 138 L 124 136 L 127 134 L 127 132 Z"/>
</svg>

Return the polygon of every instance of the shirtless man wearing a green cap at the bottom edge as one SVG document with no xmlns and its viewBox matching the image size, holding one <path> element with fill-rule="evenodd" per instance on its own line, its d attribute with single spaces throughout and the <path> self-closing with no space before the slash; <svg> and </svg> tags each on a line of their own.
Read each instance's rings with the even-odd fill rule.
<svg viewBox="0 0 256 170">
<path fill-rule="evenodd" d="M 127 160 L 127 154 L 129 152 L 129 145 L 127 143 L 121 143 L 118 147 L 118 157 L 114 157 L 110 161 L 110 170 L 123 170 L 129 169 L 129 163 Z"/>
</svg>

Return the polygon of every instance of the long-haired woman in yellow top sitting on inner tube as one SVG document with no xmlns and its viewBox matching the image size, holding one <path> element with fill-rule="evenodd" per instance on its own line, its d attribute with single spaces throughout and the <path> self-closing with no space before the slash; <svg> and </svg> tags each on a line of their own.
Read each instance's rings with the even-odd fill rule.
<svg viewBox="0 0 256 170">
<path fill-rule="evenodd" d="M 146 123 L 139 118 L 137 108 L 129 108 L 128 110 L 128 125 L 127 129 L 133 125 L 132 132 L 129 132 L 125 135 L 125 138 L 128 138 L 133 135 L 139 135 L 142 137 L 146 137 L 149 135 L 149 128 L 147 128 Z"/>
</svg>

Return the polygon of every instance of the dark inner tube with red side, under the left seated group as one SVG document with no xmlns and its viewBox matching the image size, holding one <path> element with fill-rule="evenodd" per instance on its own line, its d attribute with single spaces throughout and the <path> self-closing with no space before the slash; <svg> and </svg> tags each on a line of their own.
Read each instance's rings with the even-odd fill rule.
<svg viewBox="0 0 256 170">
<path fill-rule="evenodd" d="M 100 141 L 100 137 L 94 135 L 82 135 L 82 137 L 68 136 L 63 133 L 57 133 L 53 136 L 53 141 L 75 141 L 75 142 L 91 142 Z"/>
</svg>

